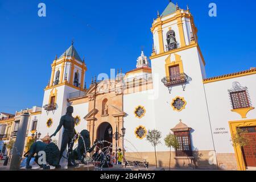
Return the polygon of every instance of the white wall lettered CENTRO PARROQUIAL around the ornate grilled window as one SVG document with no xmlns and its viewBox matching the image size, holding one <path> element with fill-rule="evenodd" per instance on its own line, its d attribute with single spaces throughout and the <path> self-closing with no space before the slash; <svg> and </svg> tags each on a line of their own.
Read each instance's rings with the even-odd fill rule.
<svg viewBox="0 0 256 182">
<path fill-rule="evenodd" d="M 228 89 L 232 89 L 233 82 L 240 82 L 241 86 L 247 86 L 253 107 L 256 106 L 256 75 L 243 76 L 228 80 L 210 82 L 204 84 L 207 94 L 207 102 L 212 125 L 214 144 L 218 153 L 234 153 L 232 146 L 229 121 L 240 121 L 246 119 L 256 119 L 256 109 L 249 111 L 246 119 L 242 119 L 240 114 L 231 110 L 232 105 L 229 99 Z M 218 129 L 224 131 L 223 134 L 214 134 Z"/>
</svg>

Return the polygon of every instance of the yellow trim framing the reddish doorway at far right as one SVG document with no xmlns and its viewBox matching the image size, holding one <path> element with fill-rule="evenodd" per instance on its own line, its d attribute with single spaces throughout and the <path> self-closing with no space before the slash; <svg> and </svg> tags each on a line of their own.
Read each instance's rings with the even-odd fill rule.
<svg viewBox="0 0 256 182">
<path fill-rule="evenodd" d="M 232 136 L 236 135 L 237 127 L 256 126 L 256 119 L 229 121 L 229 129 Z M 245 171 L 245 162 L 243 160 L 242 150 L 240 146 L 234 146 L 234 152 L 237 159 L 238 170 Z"/>
</svg>

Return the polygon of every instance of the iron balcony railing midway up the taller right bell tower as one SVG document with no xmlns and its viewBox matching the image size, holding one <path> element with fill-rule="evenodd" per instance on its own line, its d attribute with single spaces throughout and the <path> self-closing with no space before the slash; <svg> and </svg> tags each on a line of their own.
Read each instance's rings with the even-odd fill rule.
<svg viewBox="0 0 256 182">
<path fill-rule="evenodd" d="M 162 79 L 162 82 L 165 86 L 184 84 L 187 81 L 188 81 L 188 76 L 185 73 L 167 76 Z"/>
</svg>

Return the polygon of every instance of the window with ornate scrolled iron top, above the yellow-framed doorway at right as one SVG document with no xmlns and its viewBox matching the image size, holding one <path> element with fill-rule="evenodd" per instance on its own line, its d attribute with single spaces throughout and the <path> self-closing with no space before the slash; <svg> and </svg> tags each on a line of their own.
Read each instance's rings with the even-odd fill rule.
<svg viewBox="0 0 256 182">
<path fill-rule="evenodd" d="M 235 81 L 232 84 L 233 88 L 229 89 L 230 102 L 233 109 L 243 109 L 251 107 L 249 92 L 246 86 L 241 86 Z"/>
</svg>

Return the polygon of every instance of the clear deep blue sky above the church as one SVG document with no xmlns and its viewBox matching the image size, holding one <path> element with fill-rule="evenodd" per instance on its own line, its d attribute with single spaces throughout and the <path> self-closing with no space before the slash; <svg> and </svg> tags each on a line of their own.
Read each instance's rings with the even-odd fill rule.
<svg viewBox="0 0 256 182">
<path fill-rule="evenodd" d="M 255 67 L 255 1 L 177 1 L 194 16 L 208 77 Z M 40 2 L 46 3 L 45 18 L 38 16 Z M 211 2 L 217 4 L 216 18 L 208 16 Z M 152 19 L 167 5 L 168 0 L 0 0 L 0 111 L 42 106 L 51 63 L 72 39 L 85 56 L 87 85 L 110 68 L 134 69 L 142 47 L 151 54 Z"/>
</svg>

